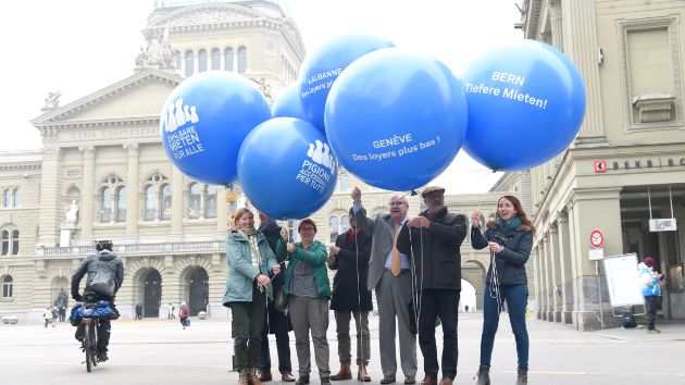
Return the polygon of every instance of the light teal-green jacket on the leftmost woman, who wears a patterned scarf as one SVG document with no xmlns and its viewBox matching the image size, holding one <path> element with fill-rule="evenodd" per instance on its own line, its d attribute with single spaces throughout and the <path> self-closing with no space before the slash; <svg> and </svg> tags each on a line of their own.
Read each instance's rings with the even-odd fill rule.
<svg viewBox="0 0 685 385">
<path fill-rule="evenodd" d="M 224 306 L 229 302 L 251 302 L 252 285 L 259 273 L 269 276 L 271 268 L 277 264 L 276 256 L 269 247 L 264 235 L 257 234 L 257 247 L 262 256 L 259 266 L 252 265 L 252 250 L 250 244 L 238 232 L 231 233 L 226 239 L 226 289 L 224 290 Z M 266 287 L 266 295 L 273 297 L 271 285 Z"/>
</svg>

